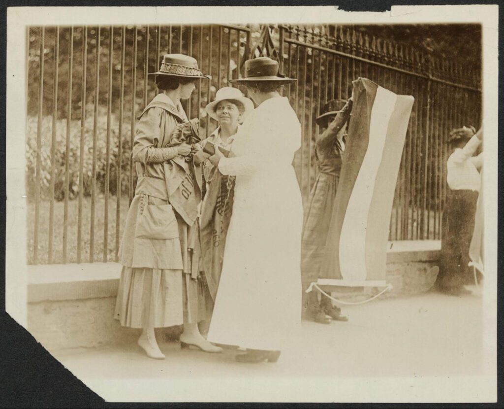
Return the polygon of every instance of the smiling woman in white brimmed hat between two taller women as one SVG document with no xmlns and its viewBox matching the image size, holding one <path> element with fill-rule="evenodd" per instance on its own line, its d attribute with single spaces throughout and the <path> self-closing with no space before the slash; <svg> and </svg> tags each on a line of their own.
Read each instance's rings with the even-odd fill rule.
<svg viewBox="0 0 504 409">
<path fill-rule="evenodd" d="M 254 103 L 243 96 L 238 88 L 223 87 L 205 110 L 219 124 L 202 146 L 211 144 L 232 151 L 234 136 L 239 124 L 254 110 Z M 206 160 L 210 154 L 198 152 L 203 163 L 207 191 L 200 218 L 202 263 L 212 299 L 215 300 L 222 270 L 225 241 L 233 204 L 234 176 L 224 176 Z"/>
</svg>

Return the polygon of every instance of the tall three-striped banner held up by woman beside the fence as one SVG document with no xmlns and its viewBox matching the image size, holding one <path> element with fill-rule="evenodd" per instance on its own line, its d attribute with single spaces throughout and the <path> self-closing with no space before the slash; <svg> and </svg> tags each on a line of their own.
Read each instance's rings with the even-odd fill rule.
<svg viewBox="0 0 504 409">
<path fill-rule="evenodd" d="M 385 286 L 392 204 L 414 98 L 359 78 L 353 100 L 318 283 Z"/>
</svg>

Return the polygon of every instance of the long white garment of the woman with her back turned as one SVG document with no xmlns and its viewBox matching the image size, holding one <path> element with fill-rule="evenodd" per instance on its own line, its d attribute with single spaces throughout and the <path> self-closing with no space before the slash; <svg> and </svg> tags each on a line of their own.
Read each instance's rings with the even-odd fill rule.
<svg viewBox="0 0 504 409">
<path fill-rule="evenodd" d="M 282 349 L 300 325 L 303 208 L 292 160 L 301 126 L 285 97 L 250 113 L 219 170 L 236 176 L 208 340 Z"/>
</svg>

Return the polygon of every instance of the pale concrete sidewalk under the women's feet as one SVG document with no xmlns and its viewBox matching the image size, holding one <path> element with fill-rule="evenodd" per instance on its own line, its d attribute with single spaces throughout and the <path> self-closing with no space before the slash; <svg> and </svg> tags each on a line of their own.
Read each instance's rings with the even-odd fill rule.
<svg viewBox="0 0 504 409">
<path fill-rule="evenodd" d="M 147 358 L 137 345 L 66 350 L 56 358 L 85 383 L 91 382 L 88 385 L 108 380 L 115 387 L 121 380 L 134 379 L 198 383 L 236 377 L 348 381 L 361 377 L 477 376 L 483 371 L 482 297 L 479 289 L 473 290 L 473 295 L 464 297 L 427 293 L 344 306 L 348 322 L 303 322 L 300 334 L 293 339 L 295 346 L 283 350 L 276 364 L 239 364 L 234 361 L 236 350 L 208 354 L 180 350 L 178 343 L 160 345 L 166 355 L 163 361 Z M 123 393 L 117 396 L 133 392 Z M 139 400 L 134 393 L 131 396 Z"/>
</svg>

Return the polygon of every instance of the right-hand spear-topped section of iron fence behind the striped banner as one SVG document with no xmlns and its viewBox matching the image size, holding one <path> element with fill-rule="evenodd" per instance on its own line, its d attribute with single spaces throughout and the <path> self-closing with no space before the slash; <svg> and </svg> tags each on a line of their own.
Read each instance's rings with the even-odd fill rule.
<svg viewBox="0 0 504 409">
<path fill-rule="evenodd" d="M 279 31 L 284 72 L 298 79 L 287 95 L 303 127 L 296 169 L 303 196 L 317 173 L 313 146 L 321 105 L 329 99 L 349 98 L 351 81 L 365 77 L 397 94 L 415 97 L 389 238 L 440 239 L 447 190 L 446 140 L 453 128 L 480 124 L 479 72 L 363 35 L 352 27 L 281 25 Z"/>
</svg>

